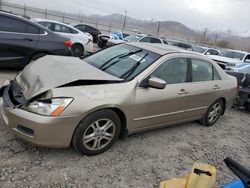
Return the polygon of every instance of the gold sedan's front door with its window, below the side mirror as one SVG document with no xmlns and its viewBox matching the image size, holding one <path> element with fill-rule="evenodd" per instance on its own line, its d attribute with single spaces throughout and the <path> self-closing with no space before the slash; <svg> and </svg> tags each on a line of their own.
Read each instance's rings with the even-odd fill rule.
<svg viewBox="0 0 250 188">
<path fill-rule="evenodd" d="M 148 129 L 185 119 L 190 83 L 187 58 L 162 63 L 150 75 L 166 81 L 164 89 L 138 87 L 135 97 L 133 129 Z"/>
</svg>

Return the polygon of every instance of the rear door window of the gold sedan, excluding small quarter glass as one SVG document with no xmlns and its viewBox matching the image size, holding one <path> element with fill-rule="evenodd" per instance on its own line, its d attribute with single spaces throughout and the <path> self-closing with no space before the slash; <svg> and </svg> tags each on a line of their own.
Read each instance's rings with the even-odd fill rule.
<svg viewBox="0 0 250 188">
<path fill-rule="evenodd" d="M 192 78 L 193 82 L 213 80 L 213 66 L 211 63 L 192 59 Z"/>
</svg>

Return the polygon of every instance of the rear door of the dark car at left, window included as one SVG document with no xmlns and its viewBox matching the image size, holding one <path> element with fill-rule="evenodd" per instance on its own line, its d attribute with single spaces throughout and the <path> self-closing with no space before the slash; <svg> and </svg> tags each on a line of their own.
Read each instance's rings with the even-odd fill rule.
<svg viewBox="0 0 250 188">
<path fill-rule="evenodd" d="M 35 52 L 40 29 L 14 17 L 0 15 L 0 66 L 22 66 Z"/>
</svg>

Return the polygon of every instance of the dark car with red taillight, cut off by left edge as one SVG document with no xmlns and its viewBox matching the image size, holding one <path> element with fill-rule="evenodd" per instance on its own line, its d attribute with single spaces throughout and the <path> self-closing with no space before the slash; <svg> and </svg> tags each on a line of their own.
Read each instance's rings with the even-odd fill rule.
<svg viewBox="0 0 250 188">
<path fill-rule="evenodd" d="M 0 11 L 0 67 L 20 68 L 47 54 L 71 56 L 71 41 L 23 17 Z"/>
</svg>

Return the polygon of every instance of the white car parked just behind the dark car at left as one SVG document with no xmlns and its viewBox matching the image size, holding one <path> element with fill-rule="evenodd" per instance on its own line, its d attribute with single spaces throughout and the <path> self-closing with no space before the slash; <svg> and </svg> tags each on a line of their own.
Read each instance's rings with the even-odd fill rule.
<svg viewBox="0 0 250 188">
<path fill-rule="evenodd" d="M 69 38 L 72 42 L 71 50 L 74 56 L 81 57 L 84 55 L 84 52 L 94 52 L 93 37 L 89 33 L 83 33 L 71 25 L 58 21 L 38 18 L 32 19 L 32 21 L 59 35 Z"/>
</svg>

